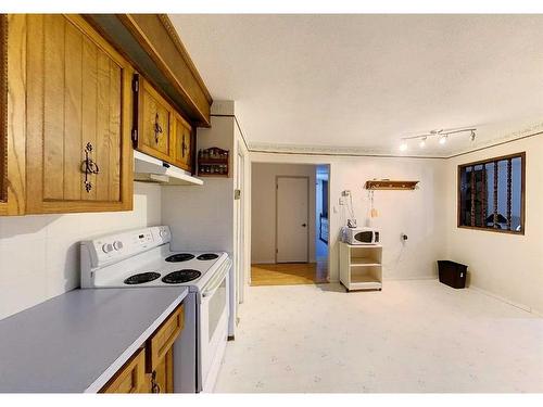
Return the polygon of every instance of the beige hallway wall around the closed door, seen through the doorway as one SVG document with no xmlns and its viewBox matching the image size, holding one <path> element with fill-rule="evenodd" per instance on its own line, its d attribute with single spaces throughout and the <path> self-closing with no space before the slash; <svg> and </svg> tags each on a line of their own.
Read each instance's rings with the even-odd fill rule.
<svg viewBox="0 0 543 407">
<path fill-rule="evenodd" d="M 252 165 L 251 260 L 275 263 L 276 250 L 276 177 L 304 176 L 310 178 L 310 262 L 315 262 L 315 174 L 314 165 L 265 164 Z"/>
</svg>

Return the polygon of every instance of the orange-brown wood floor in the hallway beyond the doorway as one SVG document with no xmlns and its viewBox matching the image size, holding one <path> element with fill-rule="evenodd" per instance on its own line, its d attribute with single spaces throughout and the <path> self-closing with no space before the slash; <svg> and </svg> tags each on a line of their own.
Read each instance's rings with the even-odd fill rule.
<svg viewBox="0 0 543 407">
<path fill-rule="evenodd" d="M 251 266 L 251 285 L 295 285 L 328 282 L 328 264 L 280 263 Z"/>
</svg>

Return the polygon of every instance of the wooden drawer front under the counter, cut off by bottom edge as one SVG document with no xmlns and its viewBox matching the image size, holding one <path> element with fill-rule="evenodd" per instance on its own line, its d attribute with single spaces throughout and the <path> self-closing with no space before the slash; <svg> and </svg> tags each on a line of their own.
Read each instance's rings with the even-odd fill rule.
<svg viewBox="0 0 543 407">
<path fill-rule="evenodd" d="M 100 393 L 144 393 L 147 387 L 146 349 L 140 348 Z"/>
</svg>

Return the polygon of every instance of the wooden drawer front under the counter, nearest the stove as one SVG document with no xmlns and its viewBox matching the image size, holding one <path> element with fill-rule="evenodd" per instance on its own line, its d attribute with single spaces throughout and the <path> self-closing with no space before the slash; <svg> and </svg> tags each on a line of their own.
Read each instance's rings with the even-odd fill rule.
<svg viewBox="0 0 543 407">
<path fill-rule="evenodd" d="M 147 371 L 152 372 L 166 356 L 185 323 L 184 306 L 180 305 L 147 341 Z"/>
</svg>

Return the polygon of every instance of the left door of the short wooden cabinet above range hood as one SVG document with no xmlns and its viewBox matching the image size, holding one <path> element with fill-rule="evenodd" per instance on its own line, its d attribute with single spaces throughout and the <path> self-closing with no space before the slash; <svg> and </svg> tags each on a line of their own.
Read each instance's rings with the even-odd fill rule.
<svg viewBox="0 0 543 407">
<path fill-rule="evenodd" d="M 138 150 L 172 162 L 172 107 L 156 90 L 140 78 Z"/>
</svg>

